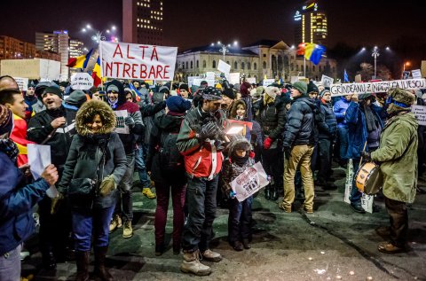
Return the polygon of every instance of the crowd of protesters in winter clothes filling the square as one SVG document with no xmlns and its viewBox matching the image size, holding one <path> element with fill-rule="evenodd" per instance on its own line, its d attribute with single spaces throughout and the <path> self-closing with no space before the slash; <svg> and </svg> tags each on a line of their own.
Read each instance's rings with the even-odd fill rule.
<svg viewBox="0 0 426 281">
<path fill-rule="evenodd" d="M 282 198 L 278 208 L 286 213 L 301 199 L 307 214 L 315 211 L 315 187 L 335 183 L 333 160 L 343 168 L 352 160 L 355 171 L 361 157 L 380 163 L 391 239 L 378 250 L 406 251 L 406 203 L 414 201 L 426 150 L 424 127 L 410 106 L 425 102 L 421 90 L 332 97 L 313 82 L 201 82 L 193 89 L 113 80 L 83 91 L 63 82 L 30 81 L 21 92 L 11 76 L 2 76 L 0 280 L 20 277 L 16 265 L 35 229 L 33 212 L 40 217 L 45 269 L 75 259 L 75 279 L 88 280 L 93 246 L 95 275 L 112 280 L 105 266 L 108 234 L 122 229 L 122 238 L 133 235 L 134 173 L 143 194 L 157 200 L 155 254 L 167 248 L 171 195 L 172 248 L 174 254 L 183 251 L 180 269 L 209 275 L 201 257 L 222 260 L 209 248 L 217 206 L 229 207 L 230 246 L 250 248 L 253 197 L 240 202 L 230 183 L 257 161 L 269 178 L 258 196 Z M 117 118 L 122 111 L 127 114 Z M 251 126 L 230 136 L 231 121 Z M 27 144 L 51 147 L 51 165 L 39 179 L 28 171 Z M 55 183 L 58 194 L 47 196 Z M 353 180 L 350 206 L 364 214 L 361 195 Z"/>
</svg>

